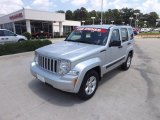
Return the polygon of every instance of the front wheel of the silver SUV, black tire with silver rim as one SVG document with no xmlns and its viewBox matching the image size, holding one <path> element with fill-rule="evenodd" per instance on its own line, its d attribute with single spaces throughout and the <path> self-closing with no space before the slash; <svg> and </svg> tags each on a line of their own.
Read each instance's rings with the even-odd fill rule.
<svg viewBox="0 0 160 120">
<path fill-rule="evenodd" d="M 95 78 L 95 79 L 93 79 L 93 78 Z M 93 79 L 93 82 L 91 82 L 92 81 L 91 79 Z M 96 81 L 96 82 L 94 82 L 94 81 Z M 78 96 L 83 100 L 90 99 L 95 94 L 95 92 L 97 90 L 98 82 L 99 82 L 99 75 L 95 70 L 90 70 L 89 72 L 87 72 L 84 79 L 83 79 L 83 82 L 81 84 L 81 88 L 78 92 Z M 88 87 L 88 92 L 86 92 L 87 87 Z"/>
</svg>

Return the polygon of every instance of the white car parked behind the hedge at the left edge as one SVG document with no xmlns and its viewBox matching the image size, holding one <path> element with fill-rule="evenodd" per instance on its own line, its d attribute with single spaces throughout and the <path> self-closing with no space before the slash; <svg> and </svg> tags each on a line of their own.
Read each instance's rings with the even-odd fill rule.
<svg viewBox="0 0 160 120">
<path fill-rule="evenodd" d="M 20 42 L 24 40 L 27 40 L 25 36 L 15 34 L 6 29 L 0 29 L 0 44 Z"/>
</svg>

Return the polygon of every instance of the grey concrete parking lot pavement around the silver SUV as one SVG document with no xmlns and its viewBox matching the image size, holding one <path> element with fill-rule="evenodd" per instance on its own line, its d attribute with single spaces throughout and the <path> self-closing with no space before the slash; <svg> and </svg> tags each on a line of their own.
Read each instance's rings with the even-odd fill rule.
<svg viewBox="0 0 160 120">
<path fill-rule="evenodd" d="M 0 120 L 160 120 L 160 39 L 137 39 L 132 66 L 107 73 L 88 101 L 30 74 L 34 53 L 0 57 Z"/>
</svg>

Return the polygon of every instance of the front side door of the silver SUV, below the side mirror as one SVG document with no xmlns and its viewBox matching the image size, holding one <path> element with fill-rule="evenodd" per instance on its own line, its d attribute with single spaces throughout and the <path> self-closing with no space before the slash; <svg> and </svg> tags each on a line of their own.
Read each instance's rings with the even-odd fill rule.
<svg viewBox="0 0 160 120">
<path fill-rule="evenodd" d="M 123 51 L 123 45 L 120 46 L 110 46 L 110 43 L 114 41 L 119 41 L 121 43 L 120 38 L 120 29 L 115 28 L 113 31 L 111 31 L 111 38 L 109 41 L 109 46 L 106 51 L 106 59 L 109 59 L 109 62 L 106 63 L 106 69 L 110 70 L 112 68 L 115 68 L 119 65 L 119 63 L 125 59 L 124 58 L 124 51 Z"/>
</svg>

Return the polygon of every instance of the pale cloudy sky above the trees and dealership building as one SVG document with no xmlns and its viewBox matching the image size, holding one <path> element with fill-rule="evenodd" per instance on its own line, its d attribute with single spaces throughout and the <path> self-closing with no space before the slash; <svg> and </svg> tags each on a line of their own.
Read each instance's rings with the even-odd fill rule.
<svg viewBox="0 0 160 120">
<path fill-rule="evenodd" d="M 152 11 L 160 15 L 160 0 L 103 0 L 104 10 L 123 7 L 140 9 L 143 13 Z M 0 14 L 30 8 L 45 11 L 75 10 L 80 7 L 87 10 L 100 10 L 101 0 L 0 0 Z"/>
</svg>

